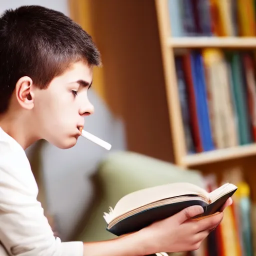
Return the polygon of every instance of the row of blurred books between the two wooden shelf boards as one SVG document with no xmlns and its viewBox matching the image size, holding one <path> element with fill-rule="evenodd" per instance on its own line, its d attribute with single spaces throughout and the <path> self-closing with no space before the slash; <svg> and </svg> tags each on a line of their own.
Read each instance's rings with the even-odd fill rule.
<svg viewBox="0 0 256 256">
<path fill-rule="evenodd" d="M 175 55 L 187 154 L 256 141 L 255 52 L 203 48 Z"/>
</svg>

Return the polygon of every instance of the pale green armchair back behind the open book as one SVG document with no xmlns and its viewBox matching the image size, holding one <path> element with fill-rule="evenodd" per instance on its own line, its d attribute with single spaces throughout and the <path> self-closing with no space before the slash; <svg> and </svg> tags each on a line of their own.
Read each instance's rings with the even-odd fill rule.
<svg viewBox="0 0 256 256">
<path fill-rule="evenodd" d="M 75 239 L 98 241 L 115 236 L 106 231 L 103 212 L 114 207 L 125 194 L 138 189 L 170 182 L 191 182 L 203 187 L 200 172 L 186 170 L 176 165 L 129 151 L 117 151 L 108 155 L 94 176 L 98 198 L 93 205 Z"/>
</svg>

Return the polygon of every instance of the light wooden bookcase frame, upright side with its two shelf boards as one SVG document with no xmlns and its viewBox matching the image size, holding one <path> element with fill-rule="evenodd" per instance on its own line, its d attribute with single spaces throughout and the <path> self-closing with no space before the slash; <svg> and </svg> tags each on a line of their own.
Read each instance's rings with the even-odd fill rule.
<svg viewBox="0 0 256 256">
<path fill-rule="evenodd" d="M 175 163 L 183 167 L 194 167 L 201 164 L 256 155 L 255 143 L 187 154 L 174 62 L 175 51 L 178 49 L 208 47 L 231 49 L 256 48 L 256 37 L 171 36 L 168 0 L 155 0 L 155 7 Z"/>
</svg>

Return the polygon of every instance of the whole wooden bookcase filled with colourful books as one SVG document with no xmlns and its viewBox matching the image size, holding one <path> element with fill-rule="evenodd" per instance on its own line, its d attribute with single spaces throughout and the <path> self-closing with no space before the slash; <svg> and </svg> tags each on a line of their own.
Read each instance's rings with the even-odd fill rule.
<svg viewBox="0 0 256 256">
<path fill-rule="evenodd" d="M 195 20 L 195 15 L 197 15 L 198 21 L 200 19 L 198 16 L 201 14 L 201 12 L 198 13 L 198 10 L 202 10 L 203 7 L 200 8 L 197 5 L 195 10 L 194 8 L 192 9 L 191 5 L 189 6 L 188 0 L 170 1 L 172 1 L 172 4 L 176 2 L 176 5 L 175 3 L 173 4 L 175 7 L 179 3 L 181 3 L 180 5 L 184 4 L 182 10 L 185 9 L 185 14 L 189 11 L 189 13 L 193 12 L 187 18 L 188 21 L 185 20 L 181 23 L 181 32 L 177 31 L 177 27 L 180 27 L 175 23 L 177 26 L 174 27 L 175 36 L 172 36 L 171 27 L 173 26 L 171 26 L 171 21 L 177 10 L 173 6 L 172 10 L 170 10 L 168 0 L 155 0 L 174 162 L 186 169 L 200 170 L 205 175 L 205 183 L 207 185 L 216 178 L 216 183 L 225 181 L 235 183 L 238 186 L 237 197 L 234 196 L 234 203 L 231 206 L 233 211 L 230 207 L 227 208 L 223 221 L 217 227 L 218 231 L 212 235 L 217 239 L 212 241 L 209 238 L 208 243 L 200 246 L 200 251 L 195 251 L 193 255 L 219 255 L 219 253 L 221 255 L 228 255 L 229 253 L 230 255 L 255 255 L 256 227 L 253 223 L 256 217 L 256 190 L 254 188 L 256 180 L 254 167 L 256 136 L 252 136 L 253 139 L 251 139 L 251 135 L 248 135 L 248 133 L 253 132 L 254 123 L 252 121 L 253 111 L 251 110 L 253 109 L 251 107 L 253 104 L 249 105 L 247 101 L 251 100 L 251 103 L 253 101 L 252 98 L 254 97 L 254 101 L 256 98 L 256 93 L 252 93 L 256 87 L 255 64 L 250 61 L 248 65 L 248 59 L 255 58 L 255 55 L 253 56 L 255 51 L 252 53 L 251 49 L 256 48 L 256 37 L 187 36 L 183 33 L 184 31 L 187 32 L 188 29 L 191 29 L 189 30 L 190 35 L 195 32 L 193 25 L 190 26 L 188 22 Z M 237 0 L 236 2 L 248 7 L 249 1 Z M 193 7 L 198 2 L 193 1 Z M 212 2 L 211 4 L 213 4 Z M 223 0 L 214 2 L 225 6 L 231 4 L 231 1 Z M 200 1 L 200 3 L 203 2 Z M 234 1 L 232 1 L 233 3 Z M 223 7 L 223 5 L 221 6 Z M 243 8 L 245 8 L 244 6 Z M 239 7 L 241 8 L 241 6 Z M 187 10 L 187 8 L 190 9 Z M 169 11 L 171 14 L 169 14 Z M 184 12 L 182 13 L 182 18 L 186 19 Z M 222 14 L 223 12 L 222 10 Z M 243 12 L 244 17 L 247 12 Z M 173 15 L 172 18 L 170 15 Z M 255 17 L 249 19 L 255 20 Z M 200 25 L 201 31 L 205 31 L 203 30 L 204 24 L 201 22 Z M 188 29 L 186 30 L 185 28 L 187 27 Z M 181 36 L 176 36 L 179 32 Z M 236 68 L 234 68 L 233 59 L 229 58 L 230 53 L 240 56 L 236 59 Z M 250 53 L 252 54 L 250 55 Z M 250 74 L 248 75 L 248 73 Z M 223 89 L 223 87 L 225 88 Z M 238 87 L 241 88 L 239 92 L 236 90 Z M 246 93 L 244 93 L 245 91 Z M 240 99 L 238 98 L 243 99 L 239 101 Z M 241 106 L 240 103 L 242 101 Z M 200 108 L 207 108 L 208 110 L 201 110 Z M 242 108 L 241 114 L 239 111 Z M 227 109 L 232 110 L 227 114 Z M 218 114 L 219 116 L 216 118 Z M 209 125 L 205 124 L 205 120 Z M 231 123 L 233 125 L 230 125 Z M 246 128 L 242 134 L 241 131 L 245 126 Z M 233 129 L 232 127 L 236 128 Z M 219 131 L 221 128 L 222 131 Z M 190 130 L 190 134 L 188 130 Z M 234 130 L 236 132 L 232 132 Z M 209 132 L 206 134 L 207 131 Z M 232 135 L 230 135 L 231 133 Z M 248 139 L 243 140 L 243 135 Z M 211 138 L 209 139 L 209 137 Z M 238 139 L 235 142 L 235 139 L 230 142 L 232 140 L 230 137 Z M 225 142 L 221 140 L 225 140 Z M 228 142 L 226 143 L 226 141 Z M 194 144 L 194 148 L 191 147 L 191 144 Z M 243 183 L 241 180 L 245 182 Z M 241 191 L 242 193 L 244 192 L 242 196 Z M 250 208 L 245 209 L 241 198 L 248 199 L 247 202 Z M 246 214 L 244 214 L 245 211 Z M 245 222 L 250 224 L 245 227 Z M 248 237 L 249 239 L 247 239 Z M 252 250 L 253 253 L 250 253 L 249 251 Z"/>
</svg>

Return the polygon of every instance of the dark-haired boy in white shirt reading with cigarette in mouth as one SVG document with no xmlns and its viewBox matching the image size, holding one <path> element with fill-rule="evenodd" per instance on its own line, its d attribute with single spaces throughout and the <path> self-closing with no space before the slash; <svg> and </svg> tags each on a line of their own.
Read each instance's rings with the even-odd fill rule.
<svg viewBox="0 0 256 256">
<path fill-rule="evenodd" d="M 87 90 L 93 66 L 99 65 L 91 37 L 60 12 L 21 6 L 0 18 L 0 242 L 8 255 L 139 256 L 193 250 L 222 219 L 220 212 L 190 220 L 202 212 L 193 206 L 109 241 L 54 237 L 36 200 L 24 149 L 41 138 L 60 148 L 76 144 L 84 117 L 93 113 Z"/>
</svg>

